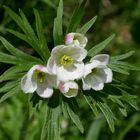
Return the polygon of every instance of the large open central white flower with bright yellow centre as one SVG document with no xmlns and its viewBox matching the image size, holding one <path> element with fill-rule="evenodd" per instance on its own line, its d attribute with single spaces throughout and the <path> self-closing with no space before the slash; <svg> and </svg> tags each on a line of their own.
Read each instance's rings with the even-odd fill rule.
<svg viewBox="0 0 140 140">
<path fill-rule="evenodd" d="M 47 69 L 56 74 L 59 81 L 81 78 L 84 74 L 84 63 L 87 51 L 81 47 L 59 45 L 53 48 L 48 60 Z"/>
</svg>

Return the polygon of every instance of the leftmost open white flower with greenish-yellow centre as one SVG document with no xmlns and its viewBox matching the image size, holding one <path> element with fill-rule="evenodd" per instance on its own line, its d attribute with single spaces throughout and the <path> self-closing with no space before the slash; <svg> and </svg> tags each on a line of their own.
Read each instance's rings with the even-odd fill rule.
<svg viewBox="0 0 140 140">
<path fill-rule="evenodd" d="M 24 93 L 34 91 L 42 98 L 49 98 L 53 94 L 53 87 L 56 86 L 56 76 L 50 75 L 46 67 L 34 65 L 21 79 L 21 88 Z"/>
</svg>

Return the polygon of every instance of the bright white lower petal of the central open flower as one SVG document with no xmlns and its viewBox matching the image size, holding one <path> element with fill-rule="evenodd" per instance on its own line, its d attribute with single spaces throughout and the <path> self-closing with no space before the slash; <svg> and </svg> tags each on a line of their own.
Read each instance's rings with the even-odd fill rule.
<svg viewBox="0 0 140 140">
<path fill-rule="evenodd" d="M 69 80 L 79 79 L 84 74 L 84 63 L 75 63 L 75 69 L 66 69 L 65 67 L 61 66 L 57 68 L 57 78 L 60 81 L 66 82 Z"/>
</svg>

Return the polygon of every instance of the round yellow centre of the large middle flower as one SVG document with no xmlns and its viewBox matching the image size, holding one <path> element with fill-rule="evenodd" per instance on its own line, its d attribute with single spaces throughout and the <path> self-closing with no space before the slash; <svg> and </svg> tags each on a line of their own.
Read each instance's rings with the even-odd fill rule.
<svg viewBox="0 0 140 140">
<path fill-rule="evenodd" d="M 68 55 L 63 55 L 60 59 L 60 63 L 63 65 L 63 66 L 69 66 L 73 63 L 73 58 L 71 58 L 70 56 Z"/>
</svg>

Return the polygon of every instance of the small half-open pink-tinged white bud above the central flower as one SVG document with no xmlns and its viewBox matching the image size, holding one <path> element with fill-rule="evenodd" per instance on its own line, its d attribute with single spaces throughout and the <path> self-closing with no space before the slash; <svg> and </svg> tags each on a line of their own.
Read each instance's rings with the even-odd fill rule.
<svg viewBox="0 0 140 140">
<path fill-rule="evenodd" d="M 74 45 L 78 47 L 85 47 L 87 44 L 87 38 L 80 33 L 68 33 L 65 36 L 65 44 L 66 45 Z"/>
</svg>

